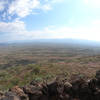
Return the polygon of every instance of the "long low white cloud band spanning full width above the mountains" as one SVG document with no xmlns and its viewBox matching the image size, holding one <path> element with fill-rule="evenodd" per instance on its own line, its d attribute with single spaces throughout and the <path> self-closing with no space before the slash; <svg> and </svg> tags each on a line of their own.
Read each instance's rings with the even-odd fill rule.
<svg viewBox="0 0 100 100">
<path fill-rule="evenodd" d="M 22 21 L 0 22 L 1 41 L 32 40 L 32 39 L 53 39 L 53 38 L 74 38 L 100 41 L 100 28 L 96 21 L 93 26 L 87 27 L 56 27 L 48 26 L 41 30 L 27 31 Z"/>
</svg>

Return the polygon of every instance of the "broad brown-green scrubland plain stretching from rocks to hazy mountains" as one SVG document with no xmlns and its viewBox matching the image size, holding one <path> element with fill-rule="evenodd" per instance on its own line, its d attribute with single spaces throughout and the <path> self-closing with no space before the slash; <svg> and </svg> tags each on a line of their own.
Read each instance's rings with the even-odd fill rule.
<svg viewBox="0 0 100 100">
<path fill-rule="evenodd" d="M 100 46 L 74 43 L 0 44 L 0 90 L 32 80 L 73 75 L 93 78 L 100 69 Z"/>
</svg>

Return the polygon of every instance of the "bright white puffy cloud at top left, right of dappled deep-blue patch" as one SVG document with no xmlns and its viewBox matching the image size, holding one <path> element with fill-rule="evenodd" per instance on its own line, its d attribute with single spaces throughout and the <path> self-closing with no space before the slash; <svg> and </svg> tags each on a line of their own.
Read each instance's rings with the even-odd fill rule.
<svg viewBox="0 0 100 100">
<path fill-rule="evenodd" d="M 10 15 L 18 15 L 25 17 L 32 12 L 32 9 L 39 7 L 40 2 L 38 0 L 15 0 L 9 6 L 8 13 Z"/>
</svg>

